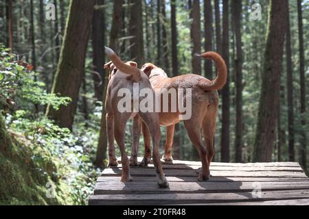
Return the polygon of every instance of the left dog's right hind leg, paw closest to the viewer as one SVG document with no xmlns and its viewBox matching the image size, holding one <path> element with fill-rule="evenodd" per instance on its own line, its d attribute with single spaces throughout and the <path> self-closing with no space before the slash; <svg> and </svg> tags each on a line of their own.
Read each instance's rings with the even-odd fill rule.
<svg viewBox="0 0 309 219">
<path fill-rule="evenodd" d="M 161 138 L 159 116 L 158 114 L 155 113 L 140 114 L 140 116 L 144 120 L 144 123 L 148 125 L 148 129 L 150 131 L 150 135 L 152 138 L 152 144 L 153 144 L 152 160 L 157 174 L 158 185 L 161 188 L 167 188 L 169 185 L 162 169 L 160 153 L 159 153 L 159 143 Z"/>
</svg>

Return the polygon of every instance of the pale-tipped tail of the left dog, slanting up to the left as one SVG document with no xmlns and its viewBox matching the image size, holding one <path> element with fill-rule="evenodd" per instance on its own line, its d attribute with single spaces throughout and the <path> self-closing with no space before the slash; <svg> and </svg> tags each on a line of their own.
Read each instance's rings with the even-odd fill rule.
<svg viewBox="0 0 309 219">
<path fill-rule="evenodd" d="M 139 68 L 135 66 L 130 66 L 122 62 L 122 60 L 120 60 L 120 58 L 116 55 L 116 53 L 111 48 L 105 47 L 105 53 L 106 55 L 108 55 L 109 59 L 113 62 L 113 64 L 118 70 L 128 75 L 131 75 L 133 79 L 139 79 L 139 77 L 141 77 Z"/>
</svg>

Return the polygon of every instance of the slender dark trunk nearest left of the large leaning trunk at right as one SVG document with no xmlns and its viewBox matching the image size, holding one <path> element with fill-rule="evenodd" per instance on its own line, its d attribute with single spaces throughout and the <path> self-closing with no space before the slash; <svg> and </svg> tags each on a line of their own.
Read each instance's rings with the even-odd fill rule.
<svg viewBox="0 0 309 219">
<path fill-rule="evenodd" d="M 236 162 L 242 162 L 242 1 L 232 1 L 233 8 L 233 28 L 236 43 L 235 55 L 235 79 L 236 79 L 236 131 L 235 131 L 235 151 Z"/>
</svg>

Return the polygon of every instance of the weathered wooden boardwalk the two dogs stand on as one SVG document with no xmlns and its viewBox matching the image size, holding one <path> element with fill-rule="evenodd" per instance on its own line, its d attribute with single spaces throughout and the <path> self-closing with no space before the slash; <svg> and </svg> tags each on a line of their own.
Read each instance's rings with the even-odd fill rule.
<svg viewBox="0 0 309 219">
<path fill-rule="evenodd" d="M 170 188 L 158 188 L 153 165 L 131 167 L 122 183 L 121 164 L 106 168 L 89 205 L 309 205 L 309 179 L 293 162 L 212 163 L 209 181 L 199 182 L 201 162 L 163 164 Z"/>
</svg>

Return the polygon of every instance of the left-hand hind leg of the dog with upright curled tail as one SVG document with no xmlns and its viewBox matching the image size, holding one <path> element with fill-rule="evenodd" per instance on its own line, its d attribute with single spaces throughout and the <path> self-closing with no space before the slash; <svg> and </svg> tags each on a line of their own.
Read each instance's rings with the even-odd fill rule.
<svg viewBox="0 0 309 219">
<path fill-rule="evenodd" d="M 200 159 L 202 162 L 202 172 L 198 175 L 199 181 L 205 181 L 209 179 L 209 164 L 207 159 L 207 151 L 205 146 L 203 145 L 203 141 L 201 138 L 201 126 L 197 125 L 198 123 L 194 122 L 194 120 L 185 120 L 185 128 L 187 129 L 187 134 L 192 141 L 194 147 L 198 151 L 198 155 L 200 155 Z"/>
</svg>

